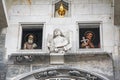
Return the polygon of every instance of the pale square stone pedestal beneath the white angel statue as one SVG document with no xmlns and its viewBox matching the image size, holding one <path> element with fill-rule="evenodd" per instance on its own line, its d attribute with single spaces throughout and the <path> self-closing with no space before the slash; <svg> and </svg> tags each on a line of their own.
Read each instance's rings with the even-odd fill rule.
<svg viewBox="0 0 120 80">
<path fill-rule="evenodd" d="M 64 54 L 50 53 L 50 64 L 64 64 Z"/>
</svg>

